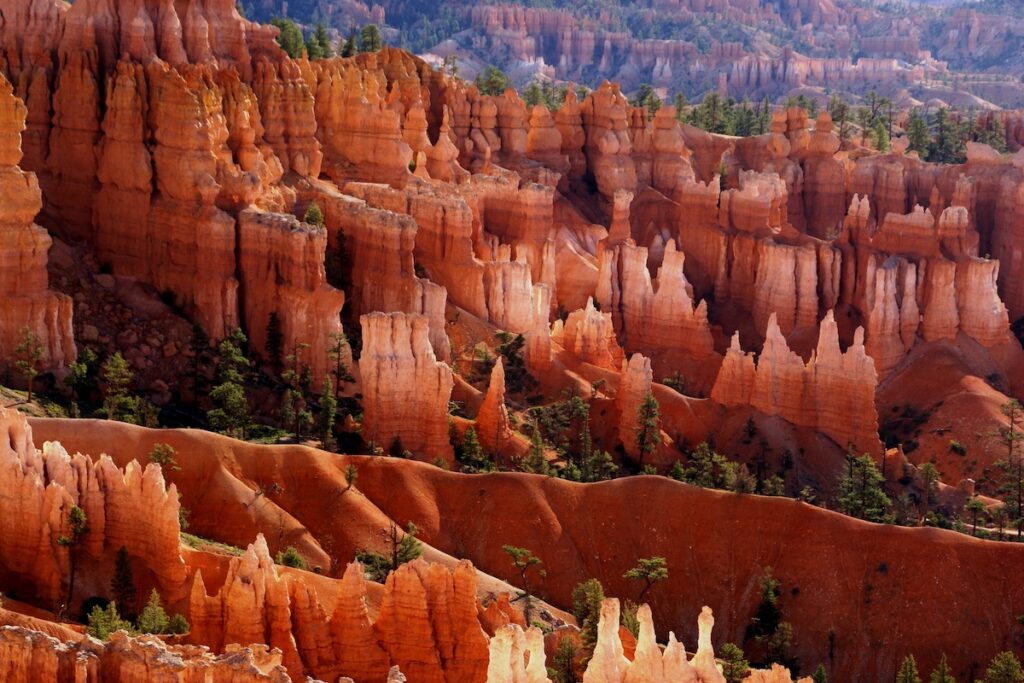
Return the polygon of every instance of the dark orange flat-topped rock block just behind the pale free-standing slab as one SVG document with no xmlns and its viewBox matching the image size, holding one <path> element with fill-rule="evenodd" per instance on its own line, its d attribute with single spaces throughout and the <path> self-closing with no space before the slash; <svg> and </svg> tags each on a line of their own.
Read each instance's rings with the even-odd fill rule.
<svg viewBox="0 0 1024 683">
<path fill-rule="evenodd" d="M 327 230 L 285 214 L 243 211 L 239 216 L 242 315 L 252 348 L 266 349 L 270 314 L 281 322 L 283 348 L 309 366 L 316 384 L 333 367 L 330 349 L 342 335 L 345 295 L 327 284 Z M 352 366 L 347 349 L 342 358 Z"/>
</svg>

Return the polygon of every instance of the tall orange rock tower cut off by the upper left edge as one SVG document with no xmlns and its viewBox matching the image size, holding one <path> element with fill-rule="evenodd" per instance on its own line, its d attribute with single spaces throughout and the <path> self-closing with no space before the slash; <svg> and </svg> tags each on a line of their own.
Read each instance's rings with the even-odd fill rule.
<svg viewBox="0 0 1024 683">
<path fill-rule="evenodd" d="M 34 224 L 42 207 L 35 174 L 18 167 L 27 110 L 0 75 L 0 365 L 8 366 L 28 330 L 42 347 L 39 370 L 62 373 L 75 360 L 72 302 L 49 291 L 49 234 Z"/>
</svg>

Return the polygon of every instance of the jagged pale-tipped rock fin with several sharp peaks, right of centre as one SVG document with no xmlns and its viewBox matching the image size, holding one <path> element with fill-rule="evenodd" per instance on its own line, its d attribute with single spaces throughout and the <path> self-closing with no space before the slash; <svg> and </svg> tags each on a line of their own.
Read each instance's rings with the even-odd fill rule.
<svg viewBox="0 0 1024 683">
<path fill-rule="evenodd" d="M 878 453 L 879 416 L 874 408 L 878 374 L 867 354 L 863 330 L 840 349 L 839 329 L 829 311 L 821 322 L 818 345 L 806 364 L 790 350 L 773 315 L 764 348 L 755 361 L 743 353 L 738 335 L 725 355 L 712 398 L 724 405 L 751 405 L 765 415 L 817 429 L 841 447 Z"/>
</svg>

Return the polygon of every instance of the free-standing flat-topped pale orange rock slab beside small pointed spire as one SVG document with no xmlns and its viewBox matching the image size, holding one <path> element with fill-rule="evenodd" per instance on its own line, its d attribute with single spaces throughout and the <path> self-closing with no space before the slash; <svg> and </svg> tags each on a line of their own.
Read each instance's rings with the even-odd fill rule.
<svg viewBox="0 0 1024 683">
<path fill-rule="evenodd" d="M 400 443 L 428 462 L 453 464 L 447 410 L 454 380 L 430 347 L 427 318 L 377 312 L 359 322 L 362 437 L 385 450 Z"/>
</svg>

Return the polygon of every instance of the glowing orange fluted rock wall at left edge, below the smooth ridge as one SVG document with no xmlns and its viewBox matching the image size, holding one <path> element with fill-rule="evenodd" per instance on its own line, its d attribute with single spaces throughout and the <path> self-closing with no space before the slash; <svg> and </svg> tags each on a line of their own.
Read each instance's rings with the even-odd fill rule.
<svg viewBox="0 0 1024 683">
<path fill-rule="evenodd" d="M 37 451 L 26 419 L 3 408 L 0 435 L 0 566 L 9 578 L 7 590 L 60 605 L 73 562 L 80 575 L 95 571 L 98 585 L 104 585 L 100 577 L 109 584 L 112 566 L 104 558 L 123 546 L 166 598 L 181 597 L 178 496 L 173 484 L 165 487 L 159 466 L 143 469 L 132 462 L 121 470 L 106 456 L 70 456 L 56 442 Z M 71 549 L 60 539 L 72 537 L 69 519 L 76 506 L 85 512 L 88 530 Z M 88 597 L 81 582 L 75 588 L 73 610 Z"/>
</svg>

